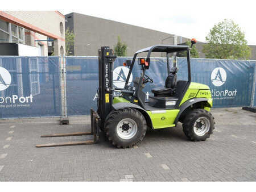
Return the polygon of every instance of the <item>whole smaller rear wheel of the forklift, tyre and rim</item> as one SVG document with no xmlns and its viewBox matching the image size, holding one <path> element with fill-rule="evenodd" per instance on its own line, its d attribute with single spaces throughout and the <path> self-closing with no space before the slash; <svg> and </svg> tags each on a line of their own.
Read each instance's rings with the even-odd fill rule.
<svg viewBox="0 0 256 192">
<path fill-rule="evenodd" d="M 192 141 L 205 141 L 214 130 L 212 114 L 201 108 L 190 111 L 183 121 L 183 132 Z"/>
</svg>

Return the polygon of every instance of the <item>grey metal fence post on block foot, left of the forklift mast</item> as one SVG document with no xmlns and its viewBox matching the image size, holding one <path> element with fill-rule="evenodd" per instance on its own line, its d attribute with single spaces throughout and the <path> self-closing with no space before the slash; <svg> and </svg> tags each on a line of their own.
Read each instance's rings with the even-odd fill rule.
<svg viewBox="0 0 256 192">
<path fill-rule="evenodd" d="M 61 117 L 60 124 L 69 124 L 67 112 L 67 86 L 66 86 L 66 63 L 65 57 L 60 56 L 60 97 L 61 97 Z"/>
</svg>

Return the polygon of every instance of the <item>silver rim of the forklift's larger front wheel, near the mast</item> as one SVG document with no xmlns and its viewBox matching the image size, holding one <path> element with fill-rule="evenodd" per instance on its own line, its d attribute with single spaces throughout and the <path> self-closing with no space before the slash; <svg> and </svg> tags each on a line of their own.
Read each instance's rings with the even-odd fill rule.
<svg viewBox="0 0 256 192">
<path fill-rule="evenodd" d="M 130 118 L 122 119 L 117 124 L 117 135 L 122 139 L 131 139 L 138 130 L 137 123 Z"/>
</svg>

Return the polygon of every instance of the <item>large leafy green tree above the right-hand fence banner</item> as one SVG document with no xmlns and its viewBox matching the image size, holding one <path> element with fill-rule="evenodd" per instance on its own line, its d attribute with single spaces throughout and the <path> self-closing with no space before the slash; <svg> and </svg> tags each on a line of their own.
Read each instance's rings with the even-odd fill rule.
<svg viewBox="0 0 256 192">
<path fill-rule="evenodd" d="M 214 25 L 205 37 L 205 57 L 212 59 L 249 59 L 251 48 L 247 46 L 245 34 L 233 20 L 225 19 Z"/>
</svg>

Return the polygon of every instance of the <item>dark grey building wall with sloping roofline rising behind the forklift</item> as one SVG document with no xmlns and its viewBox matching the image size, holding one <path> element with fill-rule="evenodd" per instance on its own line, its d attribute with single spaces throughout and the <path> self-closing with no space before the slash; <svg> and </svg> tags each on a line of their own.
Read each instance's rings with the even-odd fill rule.
<svg viewBox="0 0 256 192">
<path fill-rule="evenodd" d="M 98 49 L 105 45 L 114 48 L 118 36 L 128 45 L 127 55 L 133 56 L 139 49 L 161 44 L 162 39 L 171 36 L 164 32 L 77 13 L 65 15 L 65 18 L 66 27 L 73 28 L 75 34 L 76 56 L 97 56 Z M 183 37 L 182 41 L 185 40 Z M 177 37 L 177 43 L 180 43 L 180 37 Z M 174 44 L 174 37 L 164 40 L 163 44 Z"/>
</svg>

